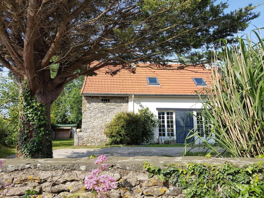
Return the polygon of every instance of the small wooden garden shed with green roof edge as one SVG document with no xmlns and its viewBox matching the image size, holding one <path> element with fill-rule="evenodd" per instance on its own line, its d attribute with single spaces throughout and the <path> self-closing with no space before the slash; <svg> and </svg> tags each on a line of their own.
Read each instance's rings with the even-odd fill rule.
<svg viewBox="0 0 264 198">
<path fill-rule="evenodd" d="M 74 138 L 77 124 L 56 124 L 55 125 L 55 139 L 69 139 Z"/>
</svg>

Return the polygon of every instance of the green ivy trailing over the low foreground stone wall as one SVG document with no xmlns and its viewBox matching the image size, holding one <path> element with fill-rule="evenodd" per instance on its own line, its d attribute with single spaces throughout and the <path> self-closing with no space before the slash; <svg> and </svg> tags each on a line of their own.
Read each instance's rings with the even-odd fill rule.
<svg viewBox="0 0 264 198">
<path fill-rule="evenodd" d="M 155 167 L 148 162 L 144 168 L 149 178 L 157 175 L 182 188 L 186 198 L 262 198 L 264 197 L 264 163 L 237 167 L 233 164 L 210 165 L 206 163 L 165 164 L 166 168 Z"/>
</svg>

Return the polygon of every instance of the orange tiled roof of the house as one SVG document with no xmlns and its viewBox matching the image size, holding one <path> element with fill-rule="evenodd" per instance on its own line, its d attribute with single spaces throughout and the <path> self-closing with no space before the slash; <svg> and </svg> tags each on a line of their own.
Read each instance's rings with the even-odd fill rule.
<svg viewBox="0 0 264 198">
<path fill-rule="evenodd" d="M 116 75 L 106 73 L 107 68 L 96 70 L 97 76 L 87 76 L 84 79 L 81 93 L 85 94 L 139 94 L 139 95 L 196 95 L 203 87 L 196 86 L 192 78 L 204 78 L 211 83 L 211 70 L 204 67 L 186 67 L 176 69 L 179 65 L 172 64 L 170 68 L 146 67 L 139 64 L 135 74 L 122 69 Z M 146 77 L 157 77 L 160 86 L 149 86 Z"/>
</svg>

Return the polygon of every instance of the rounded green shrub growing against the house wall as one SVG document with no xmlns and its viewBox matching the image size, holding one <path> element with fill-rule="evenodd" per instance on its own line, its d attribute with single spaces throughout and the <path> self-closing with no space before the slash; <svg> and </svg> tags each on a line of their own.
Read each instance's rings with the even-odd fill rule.
<svg viewBox="0 0 264 198">
<path fill-rule="evenodd" d="M 139 113 L 120 112 L 107 125 L 106 135 L 109 145 L 136 145 L 154 138 L 154 127 L 157 126 L 156 116 L 149 109 Z"/>
</svg>

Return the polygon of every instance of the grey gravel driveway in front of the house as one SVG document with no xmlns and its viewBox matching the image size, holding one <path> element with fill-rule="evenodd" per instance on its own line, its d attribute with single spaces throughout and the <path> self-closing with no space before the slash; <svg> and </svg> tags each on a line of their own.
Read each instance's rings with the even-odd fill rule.
<svg viewBox="0 0 264 198">
<path fill-rule="evenodd" d="M 56 149 L 53 151 L 54 158 L 78 158 L 89 157 L 90 155 L 106 156 L 167 156 L 179 157 L 183 147 L 108 147 L 98 149 Z M 193 152 L 198 152 L 198 148 L 194 148 Z"/>
</svg>

